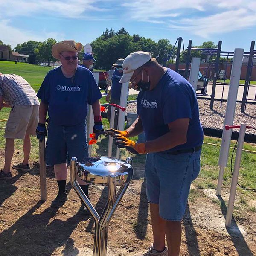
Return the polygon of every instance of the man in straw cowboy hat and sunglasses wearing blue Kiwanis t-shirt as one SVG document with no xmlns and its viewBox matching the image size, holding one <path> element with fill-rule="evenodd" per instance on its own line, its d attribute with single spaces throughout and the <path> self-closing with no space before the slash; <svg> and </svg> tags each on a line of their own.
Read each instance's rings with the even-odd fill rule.
<svg viewBox="0 0 256 256">
<path fill-rule="evenodd" d="M 88 104 L 94 114 L 93 132 L 102 134 L 102 118 L 99 99 L 102 97 L 93 74 L 77 64 L 81 43 L 65 40 L 52 46 L 52 56 L 61 61 L 61 66 L 47 73 L 38 91 L 41 99 L 39 123 L 36 130 L 41 141 L 47 135 L 45 119 L 48 111 L 49 128 L 46 147 L 46 163 L 54 165 L 58 183 L 58 195 L 51 206 L 59 208 L 67 201 L 67 164 L 71 157 L 78 161 L 88 157 L 86 116 Z M 88 196 L 88 184 L 79 180 Z M 86 209 L 82 205 L 81 209 Z"/>
</svg>

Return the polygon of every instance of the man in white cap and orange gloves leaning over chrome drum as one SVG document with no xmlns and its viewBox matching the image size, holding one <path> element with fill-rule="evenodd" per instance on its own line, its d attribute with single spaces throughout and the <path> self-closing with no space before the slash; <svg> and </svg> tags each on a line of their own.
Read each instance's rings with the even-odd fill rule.
<svg viewBox="0 0 256 256">
<path fill-rule="evenodd" d="M 135 256 L 178 256 L 181 219 L 190 184 L 200 171 L 203 143 L 195 91 L 186 79 L 160 66 L 148 52 L 134 52 L 125 58 L 120 82 L 129 80 L 140 90 L 138 118 L 126 131 L 109 129 L 105 134 L 113 136 L 119 148 L 147 153 L 145 176 L 154 241 Z M 128 139 L 142 131 L 145 143 Z"/>
</svg>

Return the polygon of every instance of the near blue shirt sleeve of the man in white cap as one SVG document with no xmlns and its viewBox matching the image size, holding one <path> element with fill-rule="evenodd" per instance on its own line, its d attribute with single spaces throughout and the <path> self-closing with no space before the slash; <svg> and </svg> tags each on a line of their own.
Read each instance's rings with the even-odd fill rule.
<svg viewBox="0 0 256 256">
<path fill-rule="evenodd" d="M 174 122 L 180 118 L 192 117 L 190 97 L 186 90 L 179 87 L 163 93 L 163 120 L 165 124 Z"/>
</svg>

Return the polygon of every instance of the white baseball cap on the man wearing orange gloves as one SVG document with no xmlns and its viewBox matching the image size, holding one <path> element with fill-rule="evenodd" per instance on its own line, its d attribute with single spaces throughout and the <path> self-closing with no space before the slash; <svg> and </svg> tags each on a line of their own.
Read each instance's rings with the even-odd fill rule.
<svg viewBox="0 0 256 256">
<path fill-rule="evenodd" d="M 149 52 L 133 52 L 128 55 L 123 63 L 123 76 L 119 83 L 126 83 L 130 81 L 134 70 L 141 67 L 145 63 L 151 60 Z"/>
</svg>

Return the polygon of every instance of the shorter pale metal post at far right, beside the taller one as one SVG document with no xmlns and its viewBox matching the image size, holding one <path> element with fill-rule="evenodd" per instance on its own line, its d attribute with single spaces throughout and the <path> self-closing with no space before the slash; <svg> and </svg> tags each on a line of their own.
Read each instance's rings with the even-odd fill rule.
<svg viewBox="0 0 256 256">
<path fill-rule="evenodd" d="M 226 215 L 227 227 L 230 227 L 231 220 L 232 220 L 232 212 L 234 209 L 234 202 L 236 197 L 236 186 L 238 181 L 238 175 L 239 175 L 239 169 L 240 169 L 240 163 L 241 163 L 241 157 L 242 157 L 242 151 L 243 151 L 243 145 L 244 145 L 245 130 L 246 130 L 246 124 L 241 124 L 238 143 L 237 143 L 237 149 L 236 149 L 236 160 L 235 160 L 232 183 L 230 188 L 230 197 L 229 197 L 228 206 L 227 206 L 227 215 Z"/>
</svg>

